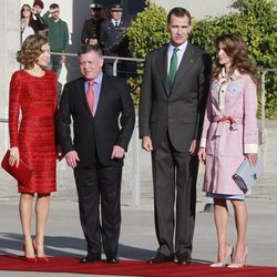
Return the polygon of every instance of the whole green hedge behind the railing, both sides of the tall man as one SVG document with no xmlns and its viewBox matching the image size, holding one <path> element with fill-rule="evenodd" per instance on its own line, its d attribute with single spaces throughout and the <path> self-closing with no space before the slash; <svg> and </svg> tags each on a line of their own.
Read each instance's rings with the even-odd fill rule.
<svg viewBox="0 0 277 277">
<path fill-rule="evenodd" d="M 127 31 L 131 52 L 137 59 L 144 59 L 150 50 L 168 41 L 165 9 L 151 0 L 146 4 Z M 236 0 L 232 6 L 235 10 L 233 13 L 193 20 L 191 42 L 215 59 L 215 38 L 236 32 L 245 39 L 249 55 L 258 68 L 277 68 L 276 0 Z M 143 64 L 138 64 L 137 74 L 137 78 L 129 80 L 135 104 L 140 99 Z M 277 115 L 277 76 L 276 73 L 267 73 L 266 76 L 266 111 L 267 117 L 273 117 Z"/>
</svg>

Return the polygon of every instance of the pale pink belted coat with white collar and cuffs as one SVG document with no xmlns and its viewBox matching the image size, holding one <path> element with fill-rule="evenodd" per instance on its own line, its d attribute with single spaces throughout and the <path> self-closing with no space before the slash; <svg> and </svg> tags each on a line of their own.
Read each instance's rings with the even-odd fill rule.
<svg viewBox="0 0 277 277">
<path fill-rule="evenodd" d="M 206 147 L 204 192 L 244 194 L 232 175 L 244 161 L 245 153 L 257 153 L 257 88 L 248 74 L 238 71 L 226 82 L 225 71 L 212 83 L 201 147 Z M 218 122 L 223 116 L 235 120 Z M 234 130 L 235 129 L 235 130 Z"/>
</svg>

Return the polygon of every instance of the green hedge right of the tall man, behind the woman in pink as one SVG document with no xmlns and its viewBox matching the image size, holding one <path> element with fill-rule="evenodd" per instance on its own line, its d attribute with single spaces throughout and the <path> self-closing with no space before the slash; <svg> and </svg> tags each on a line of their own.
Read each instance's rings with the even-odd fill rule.
<svg viewBox="0 0 277 277">
<path fill-rule="evenodd" d="M 215 58 L 213 41 L 223 33 L 240 34 L 250 58 L 259 69 L 277 68 L 277 14 L 276 0 L 236 0 L 236 12 L 223 17 L 194 21 L 191 41 Z M 267 73 L 266 113 L 267 117 L 277 116 L 277 76 Z"/>
</svg>

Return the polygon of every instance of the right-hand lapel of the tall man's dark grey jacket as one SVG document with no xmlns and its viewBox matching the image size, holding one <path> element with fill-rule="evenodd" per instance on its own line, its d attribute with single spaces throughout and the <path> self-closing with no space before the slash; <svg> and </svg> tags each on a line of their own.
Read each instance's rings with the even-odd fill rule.
<svg viewBox="0 0 277 277">
<path fill-rule="evenodd" d="M 181 81 L 184 79 L 186 72 L 192 68 L 192 65 L 194 64 L 194 50 L 192 48 L 192 45 L 188 43 L 186 47 L 186 51 L 183 55 L 183 59 L 179 63 L 178 70 L 176 72 L 176 76 L 175 76 L 175 81 L 173 83 L 173 88 Z"/>
</svg>

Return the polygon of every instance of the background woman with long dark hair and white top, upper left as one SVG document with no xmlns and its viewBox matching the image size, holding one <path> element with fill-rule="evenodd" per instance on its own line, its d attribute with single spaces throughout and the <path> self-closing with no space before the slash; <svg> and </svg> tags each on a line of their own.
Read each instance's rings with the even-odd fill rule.
<svg viewBox="0 0 277 277">
<path fill-rule="evenodd" d="M 23 42 L 27 37 L 34 34 L 34 30 L 32 28 L 32 11 L 29 4 L 24 3 L 21 7 L 20 17 L 21 42 Z"/>
</svg>

